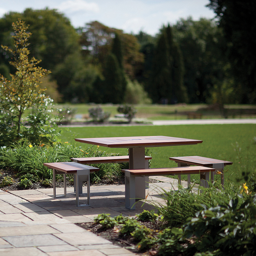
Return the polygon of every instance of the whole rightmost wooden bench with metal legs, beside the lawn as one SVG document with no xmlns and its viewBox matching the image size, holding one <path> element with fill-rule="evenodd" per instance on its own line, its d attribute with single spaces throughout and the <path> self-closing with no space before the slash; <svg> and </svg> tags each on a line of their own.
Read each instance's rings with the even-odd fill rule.
<svg viewBox="0 0 256 256">
<path fill-rule="evenodd" d="M 233 164 L 232 162 L 203 157 L 203 156 L 179 156 L 179 157 L 169 157 L 170 160 L 178 163 L 178 166 L 204 166 L 214 168 L 215 172 L 211 173 L 211 180 L 214 181 L 214 174 L 221 172 L 221 185 L 224 188 L 224 174 L 223 169 L 226 165 Z M 181 179 L 181 176 L 178 176 L 178 179 Z M 188 175 L 188 186 L 190 186 L 190 175 Z"/>
</svg>

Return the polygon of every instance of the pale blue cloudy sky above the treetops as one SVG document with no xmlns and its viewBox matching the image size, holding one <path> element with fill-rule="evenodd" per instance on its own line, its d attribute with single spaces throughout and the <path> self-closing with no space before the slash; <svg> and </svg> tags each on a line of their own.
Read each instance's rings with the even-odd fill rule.
<svg viewBox="0 0 256 256">
<path fill-rule="evenodd" d="M 209 0 L 0 0 L 0 17 L 5 13 L 57 9 L 69 18 L 75 27 L 99 21 L 125 33 L 138 34 L 140 30 L 156 35 L 163 25 L 176 24 L 180 18 L 212 19 L 214 12 L 206 4 Z"/>
</svg>

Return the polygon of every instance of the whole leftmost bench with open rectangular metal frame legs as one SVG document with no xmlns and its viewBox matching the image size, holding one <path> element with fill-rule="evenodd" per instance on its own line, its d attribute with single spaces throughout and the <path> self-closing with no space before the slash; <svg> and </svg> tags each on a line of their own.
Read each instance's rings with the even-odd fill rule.
<svg viewBox="0 0 256 256">
<path fill-rule="evenodd" d="M 74 192 L 76 192 L 76 206 L 90 206 L 90 173 L 99 171 L 99 168 L 75 162 L 44 163 L 44 166 L 47 166 L 49 169 L 52 169 L 53 171 L 53 197 L 66 197 L 66 174 L 74 174 L 74 183 L 76 180 L 76 185 L 74 186 Z M 63 174 L 63 196 L 56 196 L 56 174 Z M 83 193 L 83 181 L 87 182 L 87 204 L 79 204 L 79 193 Z"/>
</svg>

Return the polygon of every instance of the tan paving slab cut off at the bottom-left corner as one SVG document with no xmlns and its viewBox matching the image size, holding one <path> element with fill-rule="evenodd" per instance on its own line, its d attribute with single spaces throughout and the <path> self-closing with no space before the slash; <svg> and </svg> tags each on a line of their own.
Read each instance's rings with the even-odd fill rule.
<svg viewBox="0 0 256 256">
<path fill-rule="evenodd" d="M 0 256 L 46 256 L 35 247 L 0 249 Z"/>
</svg>

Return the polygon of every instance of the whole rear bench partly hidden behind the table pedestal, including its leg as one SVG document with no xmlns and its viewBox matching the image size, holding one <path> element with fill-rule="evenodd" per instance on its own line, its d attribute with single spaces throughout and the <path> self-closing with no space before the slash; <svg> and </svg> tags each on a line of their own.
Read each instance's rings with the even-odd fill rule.
<svg viewBox="0 0 256 256">
<path fill-rule="evenodd" d="M 128 163 L 129 156 L 97 156 L 97 157 L 81 157 L 70 158 L 72 161 L 80 164 L 110 164 L 110 163 Z M 148 161 L 151 160 L 151 156 L 145 156 L 145 169 L 148 169 Z M 145 186 L 148 188 L 149 180 L 145 180 Z"/>
</svg>

